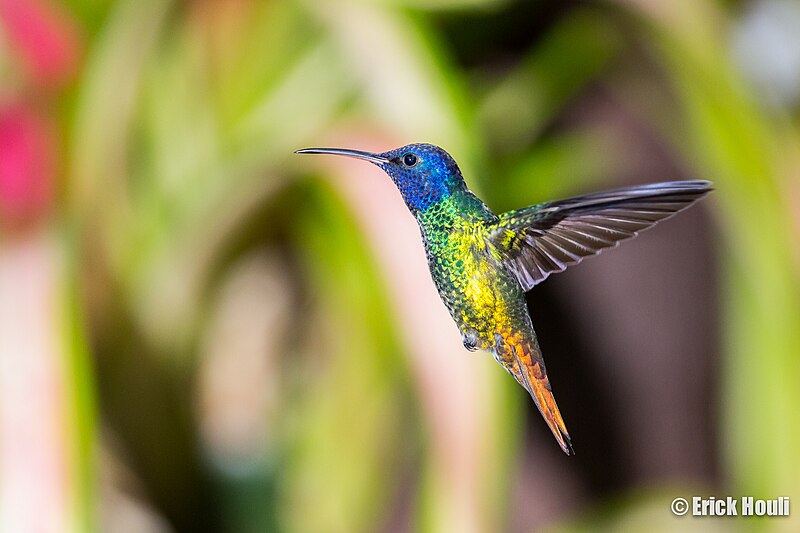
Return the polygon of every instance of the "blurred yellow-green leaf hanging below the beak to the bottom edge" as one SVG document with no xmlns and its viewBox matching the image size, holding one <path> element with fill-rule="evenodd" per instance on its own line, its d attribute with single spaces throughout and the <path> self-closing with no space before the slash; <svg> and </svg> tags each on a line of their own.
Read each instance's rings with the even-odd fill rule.
<svg viewBox="0 0 800 533">
<path fill-rule="evenodd" d="M 290 531 L 371 531 L 390 515 L 416 447 L 385 288 L 350 214 L 320 182 L 298 189 L 293 230 L 319 313 L 295 330 L 309 354 L 282 495 Z M 323 231 L 324 228 L 324 231 Z M 304 337 L 318 332 L 319 338 Z M 289 467 L 287 467 L 289 468 Z M 308 512 L 313 501 L 314 512 Z"/>
</svg>

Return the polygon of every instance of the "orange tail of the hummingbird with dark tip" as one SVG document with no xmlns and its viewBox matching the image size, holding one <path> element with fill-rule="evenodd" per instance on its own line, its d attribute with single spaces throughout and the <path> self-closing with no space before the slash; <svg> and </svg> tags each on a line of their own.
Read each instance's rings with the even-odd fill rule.
<svg viewBox="0 0 800 533">
<path fill-rule="evenodd" d="M 561 412 L 558 410 L 556 399 L 550 388 L 550 380 L 547 378 L 544 360 L 539 353 L 536 341 L 534 340 L 531 345 L 524 341 L 514 342 L 514 339 L 509 338 L 506 339 L 506 345 L 511 353 L 503 357 L 503 364 L 520 385 L 530 393 L 564 453 L 575 455 L 575 451 L 572 449 L 572 440 L 567 432 L 567 426 L 564 425 L 564 419 L 561 418 Z M 511 361 L 507 361 L 508 355 L 512 356 Z"/>
</svg>

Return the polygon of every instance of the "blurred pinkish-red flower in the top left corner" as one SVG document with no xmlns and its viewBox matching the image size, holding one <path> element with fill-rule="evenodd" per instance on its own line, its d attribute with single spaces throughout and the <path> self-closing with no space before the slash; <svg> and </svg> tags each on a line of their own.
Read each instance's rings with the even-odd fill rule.
<svg viewBox="0 0 800 533">
<path fill-rule="evenodd" d="M 77 71 L 80 34 L 74 21 L 49 0 L 0 0 L 8 39 L 43 84 L 59 86 Z"/>
</svg>

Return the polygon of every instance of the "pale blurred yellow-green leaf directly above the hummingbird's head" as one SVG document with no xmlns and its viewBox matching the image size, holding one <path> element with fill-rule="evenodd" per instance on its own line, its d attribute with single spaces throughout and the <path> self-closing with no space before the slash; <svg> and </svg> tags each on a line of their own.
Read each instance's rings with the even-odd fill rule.
<svg viewBox="0 0 800 533">
<path fill-rule="evenodd" d="M 447 146 L 466 170 L 479 138 L 458 71 L 421 21 L 388 8 L 341 3 L 315 8 L 360 90 L 359 111 L 404 142 Z"/>
</svg>

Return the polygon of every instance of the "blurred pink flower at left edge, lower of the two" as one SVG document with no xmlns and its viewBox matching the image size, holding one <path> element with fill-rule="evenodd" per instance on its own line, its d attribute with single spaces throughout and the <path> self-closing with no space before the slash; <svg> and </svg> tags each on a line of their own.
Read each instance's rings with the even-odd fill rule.
<svg viewBox="0 0 800 533">
<path fill-rule="evenodd" d="M 40 219 L 53 192 L 53 138 L 42 119 L 19 105 L 0 104 L 0 228 Z"/>
</svg>

